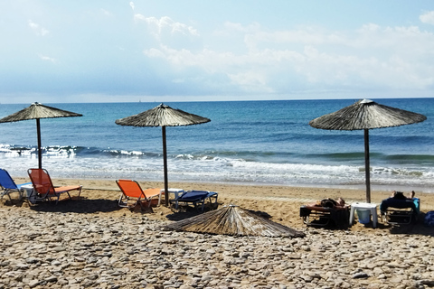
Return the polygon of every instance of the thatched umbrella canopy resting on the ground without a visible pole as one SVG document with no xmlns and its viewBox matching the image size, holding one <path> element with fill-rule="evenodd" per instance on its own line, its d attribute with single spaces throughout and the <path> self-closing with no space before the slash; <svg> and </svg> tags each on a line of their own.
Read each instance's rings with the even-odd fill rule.
<svg viewBox="0 0 434 289">
<path fill-rule="evenodd" d="M 234 205 L 165 225 L 163 229 L 231 236 L 305 237 L 303 232 Z"/>
</svg>

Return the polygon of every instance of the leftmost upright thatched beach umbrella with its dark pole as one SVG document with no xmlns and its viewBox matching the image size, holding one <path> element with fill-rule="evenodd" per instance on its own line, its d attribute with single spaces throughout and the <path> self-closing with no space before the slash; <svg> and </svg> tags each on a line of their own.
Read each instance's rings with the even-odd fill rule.
<svg viewBox="0 0 434 289">
<path fill-rule="evenodd" d="M 34 102 L 30 107 L 26 107 L 14 114 L 0 119 L 0 123 L 10 123 L 21 120 L 36 119 L 36 130 L 38 134 L 38 160 L 39 168 L 42 169 L 42 144 L 41 144 L 41 118 L 55 117 L 82 117 L 75 112 L 62 110 L 55 107 L 44 106 L 38 102 Z"/>
</svg>

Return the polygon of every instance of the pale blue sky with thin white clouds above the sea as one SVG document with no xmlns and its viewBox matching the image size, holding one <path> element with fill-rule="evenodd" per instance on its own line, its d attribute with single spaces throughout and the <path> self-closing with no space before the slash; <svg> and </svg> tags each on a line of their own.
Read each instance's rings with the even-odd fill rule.
<svg viewBox="0 0 434 289">
<path fill-rule="evenodd" d="M 432 0 L 2 0 L 0 103 L 434 97 Z"/>
</svg>

